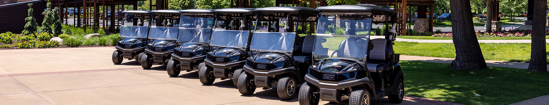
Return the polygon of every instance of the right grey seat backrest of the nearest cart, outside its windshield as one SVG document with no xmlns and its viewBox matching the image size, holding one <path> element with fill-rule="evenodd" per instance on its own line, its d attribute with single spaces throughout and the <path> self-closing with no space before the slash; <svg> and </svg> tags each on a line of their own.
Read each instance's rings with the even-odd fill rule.
<svg viewBox="0 0 549 105">
<path fill-rule="evenodd" d="M 374 61 L 389 61 L 393 55 L 393 44 L 388 39 L 377 38 L 372 39 L 373 49 L 370 50 L 370 60 Z"/>
</svg>

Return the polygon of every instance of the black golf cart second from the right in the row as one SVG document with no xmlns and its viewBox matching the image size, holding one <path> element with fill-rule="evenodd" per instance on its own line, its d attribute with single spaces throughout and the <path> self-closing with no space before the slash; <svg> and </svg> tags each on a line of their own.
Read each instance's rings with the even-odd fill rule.
<svg viewBox="0 0 549 105">
<path fill-rule="evenodd" d="M 253 32 L 250 44 L 253 55 L 246 61 L 245 72 L 238 76 L 238 91 L 251 95 L 259 87 L 276 88 L 278 97 L 292 100 L 298 94 L 297 85 L 305 81 L 302 79 L 312 65 L 315 40 L 312 35 L 297 36 L 305 31 L 295 32 L 294 27 L 316 22 L 320 11 L 306 7 L 265 7 L 255 11 L 255 26 L 259 30 Z M 281 22 L 285 22 L 284 27 L 279 26 Z M 260 23 L 267 25 L 260 27 Z M 307 44 L 303 44 L 304 40 L 308 40 Z"/>
</svg>

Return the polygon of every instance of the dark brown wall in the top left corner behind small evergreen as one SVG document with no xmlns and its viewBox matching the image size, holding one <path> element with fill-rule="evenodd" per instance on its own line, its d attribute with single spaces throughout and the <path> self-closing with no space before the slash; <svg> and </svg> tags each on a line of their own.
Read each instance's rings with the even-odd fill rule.
<svg viewBox="0 0 549 105">
<path fill-rule="evenodd" d="M 42 0 L 21 2 L 7 5 L 0 5 L 0 33 L 13 32 L 21 33 L 25 30 L 25 18 L 29 10 L 27 4 L 32 3 L 33 16 L 38 25 L 42 25 L 44 15 L 42 11 L 46 8 L 46 2 Z"/>
</svg>

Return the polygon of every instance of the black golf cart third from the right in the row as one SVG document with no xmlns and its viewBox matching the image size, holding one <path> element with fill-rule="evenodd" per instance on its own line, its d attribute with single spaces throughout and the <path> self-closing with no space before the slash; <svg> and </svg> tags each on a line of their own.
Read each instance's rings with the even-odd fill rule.
<svg viewBox="0 0 549 105">
<path fill-rule="evenodd" d="M 225 8 L 216 9 L 217 21 L 225 21 L 224 30 L 212 30 L 210 45 L 214 50 L 208 52 L 204 64 L 198 68 L 200 83 L 210 85 L 216 78 L 221 80 L 233 77 L 233 84 L 237 84 L 237 76 L 247 57 L 250 56 L 248 38 L 251 33 L 249 26 L 254 8 Z"/>
</svg>

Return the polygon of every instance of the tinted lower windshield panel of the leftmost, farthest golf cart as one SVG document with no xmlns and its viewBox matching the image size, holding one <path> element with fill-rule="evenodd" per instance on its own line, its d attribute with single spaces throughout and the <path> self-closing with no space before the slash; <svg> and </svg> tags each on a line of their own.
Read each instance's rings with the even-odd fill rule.
<svg viewBox="0 0 549 105">
<path fill-rule="evenodd" d="M 120 37 L 146 38 L 149 26 L 120 26 Z"/>
</svg>

